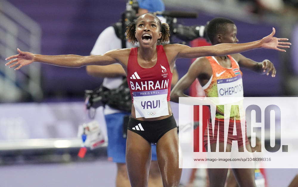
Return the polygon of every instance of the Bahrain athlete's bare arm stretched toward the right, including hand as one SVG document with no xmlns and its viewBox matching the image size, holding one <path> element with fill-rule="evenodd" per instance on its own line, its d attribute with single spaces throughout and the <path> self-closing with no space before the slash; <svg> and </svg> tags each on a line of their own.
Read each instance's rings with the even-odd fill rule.
<svg viewBox="0 0 298 187">
<path fill-rule="evenodd" d="M 275 34 L 275 29 L 270 35 L 264 37 L 261 40 L 242 43 L 242 44 L 217 44 L 212 46 L 203 46 L 203 47 L 188 47 L 186 45 L 175 45 L 176 51 L 178 51 L 176 58 L 198 58 L 202 56 L 224 56 L 229 54 L 241 53 L 244 51 L 257 49 L 257 48 L 266 48 L 274 49 L 278 51 L 284 51 L 280 48 L 289 48 L 291 43 L 289 42 L 280 42 L 288 40 L 287 38 L 276 38 L 273 37 Z M 280 48 L 279 48 L 280 47 Z"/>
</svg>

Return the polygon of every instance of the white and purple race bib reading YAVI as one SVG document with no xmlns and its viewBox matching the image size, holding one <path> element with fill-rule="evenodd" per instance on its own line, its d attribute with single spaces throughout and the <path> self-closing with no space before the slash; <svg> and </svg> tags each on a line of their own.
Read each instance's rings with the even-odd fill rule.
<svg viewBox="0 0 298 187">
<path fill-rule="evenodd" d="M 133 92 L 136 118 L 157 118 L 169 115 L 168 89 Z"/>
</svg>

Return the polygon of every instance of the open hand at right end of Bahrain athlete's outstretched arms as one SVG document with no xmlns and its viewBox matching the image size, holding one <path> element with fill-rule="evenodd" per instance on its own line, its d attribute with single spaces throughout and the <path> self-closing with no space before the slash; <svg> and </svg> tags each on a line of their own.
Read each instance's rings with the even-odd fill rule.
<svg viewBox="0 0 298 187">
<path fill-rule="evenodd" d="M 261 39 L 261 47 L 285 52 L 284 49 L 280 49 L 278 47 L 289 48 L 290 47 L 289 45 L 292 45 L 292 44 L 290 42 L 279 42 L 279 41 L 287 41 L 289 39 L 273 37 L 274 34 L 275 34 L 275 28 L 272 28 L 272 33 L 264 37 L 263 39 Z"/>
</svg>

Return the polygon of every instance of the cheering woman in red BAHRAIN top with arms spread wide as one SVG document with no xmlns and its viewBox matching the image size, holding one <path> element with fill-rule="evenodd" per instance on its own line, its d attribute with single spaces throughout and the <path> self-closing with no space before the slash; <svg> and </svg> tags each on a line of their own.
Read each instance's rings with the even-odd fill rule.
<svg viewBox="0 0 298 187">
<path fill-rule="evenodd" d="M 178 134 L 168 101 L 170 78 L 167 80 L 168 77 L 166 77 L 171 76 L 177 58 L 224 56 L 256 48 L 285 51 L 277 47 L 288 48 L 288 45 L 291 45 L 288 42 L 279 42 L 279 40 L 288 40 L 286 38 L 273 37 L 275 33 L 273 28 L 272 33 L 267 37 L 243 44 L 218 44 L 206 47 L 189 47 L 180 44 L 158 46 L 157 44 L 169 40 L 169 28 L 167 24 L 161 24 L 160 20 L 152 14 L 141 15 L 136 23 L 128 26 L 126 33 L 128 39 L 132 42 L 138 41 L 140 47 L 111 50 L 97 56 L 46 56 L 18 49 L 19 54 L 8 57 L 7 60 L 15 59 L 6 65 L 10 67 L 19 65 L 15 68 L 18 70 L 34 61 L 77 68 L 86 65 L 120 63 L 126 73 L 130 73 L 127 75 L 128 84 L 134 98 L 126 142 L 126 164 L 132 187 L 147 186 L 151 161 L 150 143 L 157 144 L 157 158 L 163 185 L 179 186 L 181 169 L 178 167 Z M 148 132 L 146 128 L 149 128 Z M 154 129 L 156 131 L 153 131 Z"/>
</svg>

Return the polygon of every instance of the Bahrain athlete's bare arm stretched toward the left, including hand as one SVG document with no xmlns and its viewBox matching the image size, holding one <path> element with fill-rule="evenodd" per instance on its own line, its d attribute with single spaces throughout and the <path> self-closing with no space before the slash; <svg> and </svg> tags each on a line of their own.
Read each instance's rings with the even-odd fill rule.
<svg viewBox="0 0 298 187">
<path fill-rule="evenodd" d="M 79 56 L 79 55 L 57 55 L 57 56 L 48 56 L 48 55 L 38 55 L 30 52 L 23 52 L 18 49 L 18 55 L 13 55 L 6 60 L 13 59 L 6 63 L 5 65 L 9 67 L 14 67 L 19 65 L 15 70 L 20 69 L 23 66 L 27 66 L 32 62 L 41 62 L 44 64 L 50 64 L 55 66 L 63 67 L 82 67 L 87 65 L 110 65 L 114 63 L 121 63 L 125 61 L 126 53 L 129 49 L 119 49 L 111 50 L 103 55 L 95 56 Z M 129 54 L 129 52 L 128 52 Z"/>
</svg>

